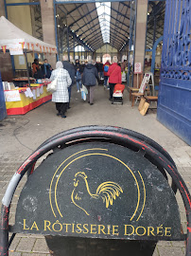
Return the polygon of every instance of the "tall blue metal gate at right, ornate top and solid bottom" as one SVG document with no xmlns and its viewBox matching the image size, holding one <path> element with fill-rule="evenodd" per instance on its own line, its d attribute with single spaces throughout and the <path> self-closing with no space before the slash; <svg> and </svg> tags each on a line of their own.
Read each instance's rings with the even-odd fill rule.
<svg viewBox="0 0 191 256">
<path fill-rule="evenodd" d="M 157 119 L 191 145 L 191 0 L 166 0 Z"/>
</svg>

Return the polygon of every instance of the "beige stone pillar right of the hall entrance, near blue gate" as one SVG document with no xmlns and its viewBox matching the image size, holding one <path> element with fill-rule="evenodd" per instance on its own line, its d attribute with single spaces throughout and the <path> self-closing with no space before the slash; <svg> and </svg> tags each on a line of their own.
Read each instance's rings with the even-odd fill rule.
<svg viewBox="0 0 191 256">
<path fill-rule="evenodd" d="M 147 37 L 147 22 L 148 22 L 148 0 L 137 0 L 136 14 L 136 42 L 135 42 L 135 57 L 134 63 L 141 63 L 142 71 L 144 68 L 144 58 L 146 50 Z M 136 76 L 136 75 L 135 75 Z M 139 84 L 142 82 L 143 73 L 139 75 Z M 134 77 L 133 86 L 137 86 L 137 80 Z"/>
</svg>

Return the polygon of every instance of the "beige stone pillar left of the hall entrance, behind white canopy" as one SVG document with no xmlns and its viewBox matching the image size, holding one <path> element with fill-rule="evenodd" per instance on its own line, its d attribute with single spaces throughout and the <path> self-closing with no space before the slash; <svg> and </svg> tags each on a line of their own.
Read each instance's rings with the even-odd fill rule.
<svg viewBox="0 0 191 256">
<path fill-rule="evenodd" d="M 53 0 L 41 0 L 41 15 L 43 27 L 43 42 L 56 46 Z M 45 58 L 48 60 L 48 63 L 51 64 L 53 68 L 55 68 L 56 55 L 46 53 Z"/>
</svg>

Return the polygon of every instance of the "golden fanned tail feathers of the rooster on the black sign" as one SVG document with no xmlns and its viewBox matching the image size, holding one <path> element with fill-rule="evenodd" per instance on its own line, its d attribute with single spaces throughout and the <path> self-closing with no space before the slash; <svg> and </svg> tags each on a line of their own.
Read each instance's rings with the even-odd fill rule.
<svg viewBox="0 0 191 256">
<path fill-rule="evenodd" d="M 122 188 L 112 181 L 100 184 L 96 190 L 96 194 L 101 196 L 103 203 L 106 203 L 106 208 L 113 206 L 113 200 L 119 196 L 120 192 L 123 192 Z"/>
</svg>

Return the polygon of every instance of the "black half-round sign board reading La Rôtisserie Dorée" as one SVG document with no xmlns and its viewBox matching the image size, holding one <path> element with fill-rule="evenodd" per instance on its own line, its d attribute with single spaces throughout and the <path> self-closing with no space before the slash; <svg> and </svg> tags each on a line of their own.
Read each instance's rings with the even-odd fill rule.
<svg viewBox="0 0 191 256">
<path fill-rule="evenodd" d="M 82 143 L 47 157 L 21 192 L 15 232 L 87 238 L 181 240 L 178 205 L 146 157 Z"/>
</svg>

